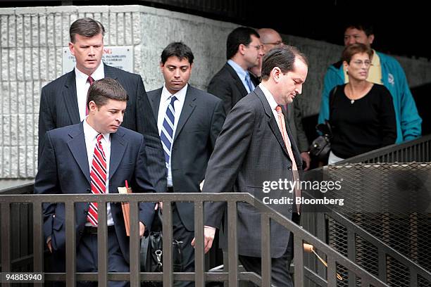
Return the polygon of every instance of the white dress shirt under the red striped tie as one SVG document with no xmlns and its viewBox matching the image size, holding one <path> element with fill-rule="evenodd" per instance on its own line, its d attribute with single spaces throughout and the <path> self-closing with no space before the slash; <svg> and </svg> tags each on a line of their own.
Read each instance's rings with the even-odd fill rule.
<svg viewBox="0 0 431 287">
<path fill-rule="evenodd" d="M 87 119 L 84 120 L 85 146 L 87 148 L 88 167 L 90 172 L 92 170 L 93 153 L 94 147 L 96 146 L 98 134 L 99 132 L 96 132 L 96 130 L 88 124 Z M 101 145 L 104 149 L 106 157 L 106 193 L 109 193 L 109 160 L 111 158 L 111 134 L 103 134 L 103 136 L 104 137 L 101 139 Z M 113 219 L 110 204 L 106 206 L 106 210 L 108 215 L 108 226 L 111 226 L 113 225 Z M 90 227 L 92 226 L 92 224 L 89 222 L 87 222 L 85 225 Z"/>
</svg>

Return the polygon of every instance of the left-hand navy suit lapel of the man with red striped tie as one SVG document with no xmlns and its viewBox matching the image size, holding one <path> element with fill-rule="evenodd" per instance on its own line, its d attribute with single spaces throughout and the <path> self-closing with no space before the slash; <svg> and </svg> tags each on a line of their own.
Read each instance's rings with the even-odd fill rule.
<svg viewBox="0 0 431 287">
<path fill-rule="evenodd" d="M 87 148 L 85 146 L 85 135 L 82 122 L 77 126 L 77 129 L 73 129 L 73 131 L 69 133 L 69 136 L 72 138 L 68 141 L 70 152 L 72 153 L 73 158 L 75 158 L 82 173 L 85 174 L 85 178 L 90 182 Z"/>
</svg>

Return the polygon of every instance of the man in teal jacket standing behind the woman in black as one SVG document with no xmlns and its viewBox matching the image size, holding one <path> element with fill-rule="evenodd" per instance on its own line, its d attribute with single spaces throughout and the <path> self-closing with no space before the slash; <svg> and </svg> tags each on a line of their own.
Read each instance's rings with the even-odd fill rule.
<svg viewBox="0 0 431 287">
<path fill-rule="evenodd" d="M 373 28 L 364 23 L 351 23 L 344 30 L 344 46 L 361 43 L 371 46 L 374 41 Z M 396 144 L 416 139 L 422 133 L 422 119 L 418 114 L 416 103 L 408 88 L 403 68 L 391 56 L 373 50 L 368 82 L 383 84 L 389 89 L 395 108 Z M 320 104 L 319 123 L 329 118 L 329 94 L 337 85 L 349 82 L 342 61 L 327 68 L 323 82 L 322 102 Z"/>
</svg>

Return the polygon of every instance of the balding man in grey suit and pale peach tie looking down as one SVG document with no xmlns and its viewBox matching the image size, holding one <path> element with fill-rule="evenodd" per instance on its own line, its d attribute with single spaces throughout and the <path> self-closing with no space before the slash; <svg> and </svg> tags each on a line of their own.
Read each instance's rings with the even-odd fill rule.
<svg viewBox="0 0 431 287">
<path fill-rule="evenodd" d="M 280 106 L 292 103 L 296 94 L 301 94 L 307 72 L 306 57 L 292 46 L 275 48 L 266 54 L 262 83 L 239 101 L 226 117 L 208 162 L 203 192 L 246 192 L 262 199 L 266 181 L 299 180 L 301 165 L 296 162 L 301 162 L 301 156 Z M 279 189 L 266 194 L 270 198 L 287 196 L 292 200 L 293 194 L 299 196 L 298 190 L 289 193 Z M 215 228 L 220 228 L 225 205 L 205 205 L 206 251 L 213 243 Z M 269 205 L 289 218 L 299 213 L 296 205 Z M 239 260 L 247 271 L 261 274 L 260 214 L 248 203 L 238 203 L 237 208 Z M 292 286 L 288 267 L 293 255 L 293 236 L 275 223 L 271 224 L 270 231 L 272 283 Z M 225 248 L 226 238 L 220 239 L 220 245 Z"/>
</svg>

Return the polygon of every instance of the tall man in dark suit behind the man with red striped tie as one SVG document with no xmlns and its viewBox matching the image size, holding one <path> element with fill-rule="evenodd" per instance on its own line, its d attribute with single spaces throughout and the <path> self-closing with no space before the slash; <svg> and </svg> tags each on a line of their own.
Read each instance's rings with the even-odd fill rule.
<svg viewBox="0 0 431 287">
<path fill-rule="evenodd" d="M 87 114 L 87 91 L 97 79 L 116 79 L 127 91 L 127 113 L 123 127 L 144 135 L 148 168 L 156 191 L 164 192 L 166 174 L 163 149 L 156 121 L 140 75 L 110 67 L 101 62 L 104 49 L 104 26 L 91 18 L 81 18 L 70 25 L 70 53 L 75 56 L 73 71 L 42 88 L 39 110 L 39 157 L 44 135 L 57 127 L 75 125 Z"/>
</svg>

